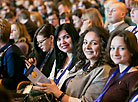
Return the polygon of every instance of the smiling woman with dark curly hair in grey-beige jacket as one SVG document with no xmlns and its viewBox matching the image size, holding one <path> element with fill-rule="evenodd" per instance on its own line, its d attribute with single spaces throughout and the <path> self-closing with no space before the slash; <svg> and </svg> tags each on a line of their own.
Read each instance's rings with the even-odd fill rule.
<svg viewBox="0 0 138 102">
<path fill-rule="evenodd" d="M 104 28 L 92 27 L 87 30 L 79 40 L 79 62 L 70 70 L 64 84 L 65 90 L 59 90 L 52 80 L 51 84 L 38 83 L 43 86 L 40 90 L 52 92 L 61 102 L 92 102 L 96 99 L 110 70 L 105 60 L 108 38 L 109 33 Z"/>
</svg>

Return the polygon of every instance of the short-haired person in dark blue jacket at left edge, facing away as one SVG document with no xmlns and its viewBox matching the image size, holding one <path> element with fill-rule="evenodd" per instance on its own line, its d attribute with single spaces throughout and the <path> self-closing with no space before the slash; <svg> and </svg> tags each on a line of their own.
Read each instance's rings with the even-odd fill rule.
<svg viewBox="0 0 138 102">
<path fill-rule="evenodd" d="M 18 83 L 25 79 L 25 62 L 20 49 L 9 42 L 11 25 L 0 19 L 0 85 L 15 90 Z"/>
</svg>

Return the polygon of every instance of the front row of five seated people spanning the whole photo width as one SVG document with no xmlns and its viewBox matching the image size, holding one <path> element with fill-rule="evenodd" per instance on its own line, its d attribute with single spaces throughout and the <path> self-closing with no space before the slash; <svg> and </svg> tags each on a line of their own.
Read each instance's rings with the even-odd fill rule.
<svg viewBox="0 0 138 102">
<path fill-rule="evenodd" d="M 21 50 L 9 42 L 10 24 L 1 19 L 0 26 L 0 81 L 9 90 L 26 79 L 25 63 L 27 68 L 34 63 L 51 82 L 37 83 L 33 89 L 52 92 L 62 102 L 125 102 L 138 80 L 137 39 L 127 30 L 110 36 L 103 27 L 93 26 L 79 36 L 70 23 L 56 30 L 46 24 L 35 33 L 36 60 L 24 63 Z"/>
</svg>

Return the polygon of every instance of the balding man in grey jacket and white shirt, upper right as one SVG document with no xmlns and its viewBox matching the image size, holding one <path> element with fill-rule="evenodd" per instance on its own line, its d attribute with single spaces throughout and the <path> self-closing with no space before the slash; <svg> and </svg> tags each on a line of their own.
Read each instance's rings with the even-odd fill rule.
<svg viewBox="0 0 138 102">
<path fill-rule="evenodd" d="M 127 8 L 123 2 L 115 2 L 109 6 L 107 16 L 109 25 L 106 29 L 110 32 L 110 34 L 118 30 L 124 30 L 129 26 L 127 23 L 124 22 L 126 13 Z"/>
</svg>

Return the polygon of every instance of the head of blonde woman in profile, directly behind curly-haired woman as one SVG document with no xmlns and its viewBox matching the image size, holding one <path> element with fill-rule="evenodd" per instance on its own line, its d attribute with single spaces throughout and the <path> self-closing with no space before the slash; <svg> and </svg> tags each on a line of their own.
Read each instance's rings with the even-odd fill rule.
<svg viewBox="0 0 138 102">
<path fill-rule="evenodd" d="M 102 16 L 96 8 L 89 8 L 82 14 L 83 24 L 81 26 L 80 35 L 93 26 L 104 27 Z"/>
</svg>

